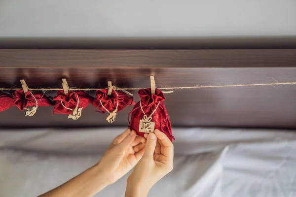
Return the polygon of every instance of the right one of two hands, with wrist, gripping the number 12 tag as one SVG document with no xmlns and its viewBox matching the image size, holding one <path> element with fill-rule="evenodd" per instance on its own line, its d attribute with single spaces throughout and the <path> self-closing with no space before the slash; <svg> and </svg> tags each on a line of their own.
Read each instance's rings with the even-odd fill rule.
<svg viewBox="0 0 296 197">
<path fill-rule="evenodd" d="M 145 153 L 127 179 L 125 197 L 144 197 L 150 188 L 173 169 L 174 146 L 165 133 L 145 134 Z"/>
</svg>

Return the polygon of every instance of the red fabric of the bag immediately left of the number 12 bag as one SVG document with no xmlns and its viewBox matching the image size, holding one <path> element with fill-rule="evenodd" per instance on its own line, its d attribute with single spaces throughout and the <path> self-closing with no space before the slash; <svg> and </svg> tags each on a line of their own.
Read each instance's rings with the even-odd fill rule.
<svg viewBox="0 0 296 197">
<path fill-rule="evenodd" d="M 96 91 L 96 98 L 93 100 L 93 106 L 96 108 L 97 111 L 101 113 L 107 112 L 106 109 L 108 109 L 109 112 L 112 112 L 114 109 L 116 109 L 116 105 L 118 102 L 117 111 L 121 111 L 125 107 L 129 105 L 134 105 L 134 98 L 130 95 L 125 94 L 122 91 L 112 90 L 112 93 L 110 96 L 107 95 L 108 90 L 97 90 Z M 116 94 L 117 93 L 117 94 Z M 103 106 L 101 105 L 101 102 Z"/>
</svg>

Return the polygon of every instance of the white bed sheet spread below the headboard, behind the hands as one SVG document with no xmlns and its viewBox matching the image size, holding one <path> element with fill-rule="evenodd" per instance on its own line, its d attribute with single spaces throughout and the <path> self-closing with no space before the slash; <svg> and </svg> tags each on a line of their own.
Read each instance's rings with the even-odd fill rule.
<svg viewBox="0 0 296 197">
<path fill-rule="evenodd" d="M 32 197 L 60 185 L 95 164 L 121 131 L 0 131 L 0 197 Z M 174 170 L 150 197 L 296 197 L 296 132 L 195 128 L 173 133 Z M 97 197 L 124 196 L 125 184 L 126 176 Z"/>
</svg>

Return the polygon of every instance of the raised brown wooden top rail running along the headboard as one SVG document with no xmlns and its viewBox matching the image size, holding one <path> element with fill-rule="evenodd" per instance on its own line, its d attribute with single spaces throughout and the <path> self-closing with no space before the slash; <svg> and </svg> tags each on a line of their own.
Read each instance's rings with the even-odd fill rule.
<svg viewBox="0 0 296 197">
<path fill-rule="evenodd" d="M 0 49 L 0 65 L 3 68 L 296 67 L 296 49 Z"/>
</svg>

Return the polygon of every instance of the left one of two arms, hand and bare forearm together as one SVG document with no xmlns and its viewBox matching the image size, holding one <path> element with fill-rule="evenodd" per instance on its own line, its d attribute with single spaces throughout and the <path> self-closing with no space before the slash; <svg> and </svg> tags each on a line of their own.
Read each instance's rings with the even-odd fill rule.
<svg viewBox="0 0 296 197">
<path fill-rule="evenodd" d="M 142 138 L 135 131 L 124 131 L 113 140 L 98 164 L 40 197 L 94 196 L 138 163 L 145 151 Z"/>
</svg>

